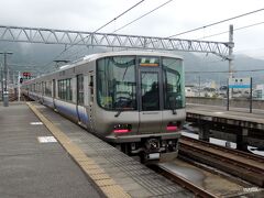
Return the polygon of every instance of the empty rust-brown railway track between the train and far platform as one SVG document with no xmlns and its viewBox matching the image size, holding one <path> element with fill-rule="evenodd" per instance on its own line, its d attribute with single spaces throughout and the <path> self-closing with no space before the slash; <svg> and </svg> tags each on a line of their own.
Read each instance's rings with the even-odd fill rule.
<svg viewBox="0 0 264 198">
<path fill-rule="evenodd" d="M 182 136 L 179 155 L 264 187 L 264 157 Z"/>
</svg>

